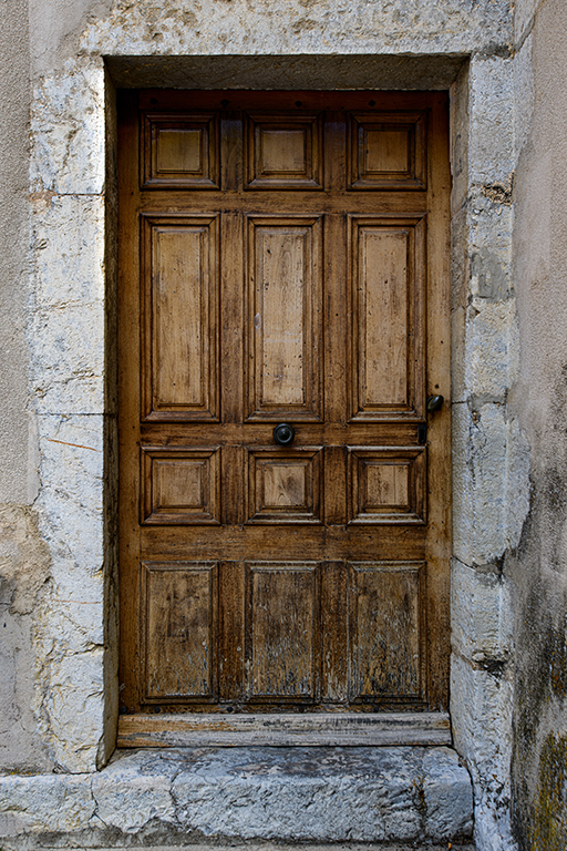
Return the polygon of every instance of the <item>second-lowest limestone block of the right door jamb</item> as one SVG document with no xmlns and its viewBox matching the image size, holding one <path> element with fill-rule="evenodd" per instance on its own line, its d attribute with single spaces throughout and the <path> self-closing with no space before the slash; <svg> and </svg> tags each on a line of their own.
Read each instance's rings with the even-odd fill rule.
<svg viewBox="0 0 567 851">
<path fill-rule="evenodd" d="M 506 662 L 512 652 L 512 604 L 507 580 L 451 565 L 451 639 L 456 653 L 478 664 Z"/>
</svg>

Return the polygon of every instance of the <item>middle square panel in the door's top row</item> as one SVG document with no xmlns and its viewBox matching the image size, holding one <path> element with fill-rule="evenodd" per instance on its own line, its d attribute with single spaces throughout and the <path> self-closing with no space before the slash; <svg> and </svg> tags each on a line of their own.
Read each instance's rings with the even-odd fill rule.
<svg viewBox="0 0 567 851">
<path fill-rule="evenodd" d="M 246 146 L 246 188 L 323 188 L 321 114 L 250 113 Z"/>
</svg>

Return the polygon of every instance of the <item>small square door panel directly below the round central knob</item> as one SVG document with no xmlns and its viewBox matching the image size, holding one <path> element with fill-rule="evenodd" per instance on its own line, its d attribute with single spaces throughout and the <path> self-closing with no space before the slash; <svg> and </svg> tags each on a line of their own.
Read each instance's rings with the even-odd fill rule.
<svg viewBox="0 0 567 851">
<path fill-rule="evenodd" d="M 248 523 L 321 523 L 322 450 L 248 449 Z"/>
</svg>

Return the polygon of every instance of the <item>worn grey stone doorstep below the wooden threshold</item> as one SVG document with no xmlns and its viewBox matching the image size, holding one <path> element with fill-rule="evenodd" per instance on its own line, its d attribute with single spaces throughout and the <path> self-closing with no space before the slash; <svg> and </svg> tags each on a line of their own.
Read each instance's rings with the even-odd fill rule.
<svg viewBox="0 0 567 851">
<path fill-rule="evenodd" d="M 0 777 L 2 851 L 248 840 L 447 849 L 472 828 L 471 779 L 447 747 L 147 748 L 118 750 L 94 775 Z"/>
</svg>

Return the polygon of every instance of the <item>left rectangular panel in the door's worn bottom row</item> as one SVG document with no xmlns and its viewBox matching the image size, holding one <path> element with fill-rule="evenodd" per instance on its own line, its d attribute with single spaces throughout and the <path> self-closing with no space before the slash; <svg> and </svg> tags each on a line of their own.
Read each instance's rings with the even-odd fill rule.
<svg viewBox="0 0 567 851">
<path fill-rule="evenodd" d="M 141 571 L 144 701 L 215 701 L 217 563 L 142 562 Z"/>
</svg>

